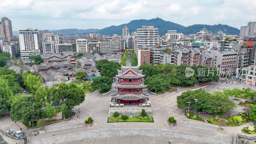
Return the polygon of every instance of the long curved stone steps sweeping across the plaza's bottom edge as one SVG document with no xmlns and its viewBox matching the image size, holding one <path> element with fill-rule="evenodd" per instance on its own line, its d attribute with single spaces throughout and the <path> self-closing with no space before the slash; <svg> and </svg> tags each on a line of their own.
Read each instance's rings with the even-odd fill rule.
<svg viewBox="0 0 256 144">
<path fill-rule="evenodd" d="M 181 132 L 172 130 L 161 130 L 161 129 L 106 129 L 106 130 L 95 130 L 95 131 L 85 131 L 70 133 L 60 136 L 53 136 L 50 138 L 45 138 L 41 140 L 31 141 L 31 144 L 52 144 L 52 143 L 64 143 L 74 140 L 84 140 L 91 138 L 100 137 L 112 137 L 112 136 L 157 136 L 157 137 L 167 137 L 173 139 L 183 139 L 191 141 L 199 141 L 204 143 L 212 144 L 232 144 L 232 140 L 191 133 L 191 132 Z"/>
</svg>

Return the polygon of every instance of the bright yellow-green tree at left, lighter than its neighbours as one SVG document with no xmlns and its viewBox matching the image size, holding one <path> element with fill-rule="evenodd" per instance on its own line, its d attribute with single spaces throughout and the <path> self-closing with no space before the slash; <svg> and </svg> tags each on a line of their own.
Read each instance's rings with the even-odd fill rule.
<svg viewBox="0 0 256 144">
<path fill-rule="evenodd" d="M 42 83 L 39 75 L 28 74 L 24 79 L 24 85 L 28 92 L 35 93 Z"/>
</svg>

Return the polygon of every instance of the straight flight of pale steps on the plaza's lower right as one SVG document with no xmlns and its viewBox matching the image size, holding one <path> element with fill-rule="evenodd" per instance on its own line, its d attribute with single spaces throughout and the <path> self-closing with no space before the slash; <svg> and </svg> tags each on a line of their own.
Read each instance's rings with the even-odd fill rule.
<svg viewBox="0 0 256 144">
<path fill-rule="evenodd" d="M 186 127 L 192 127 L 192 128 L 198 128 L 198 129 L 218 132 L 218 127 L 211 126 L 211 125 L 195 124 L 195 123 L 180 122 L 180 121 L 178 121 L 177 124 L 179 126 L 186 126 Z"/>
</svg>

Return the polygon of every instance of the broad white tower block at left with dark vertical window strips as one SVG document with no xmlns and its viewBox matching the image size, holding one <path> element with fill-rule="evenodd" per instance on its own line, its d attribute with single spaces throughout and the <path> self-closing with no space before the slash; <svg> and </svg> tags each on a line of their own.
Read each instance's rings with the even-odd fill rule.
<svg viewBox="0 0 256 144">
<path fill-rule="evenodd" d="M 40 55 L 38 31 L 19 30 L 21 59 L 27 59 L 31 55 Z"/>
</svg>

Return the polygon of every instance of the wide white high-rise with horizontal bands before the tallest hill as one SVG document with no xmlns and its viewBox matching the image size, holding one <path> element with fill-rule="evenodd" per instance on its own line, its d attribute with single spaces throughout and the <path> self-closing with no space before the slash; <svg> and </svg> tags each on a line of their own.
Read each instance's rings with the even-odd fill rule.
<svg viewBox="0 0 256 144">
<path fill-rule="evenodd" d="M 137 42 L 136 48 L 143 47 L 146 45 L 156 46 L 158 41 L 158 28 L 154 26 L 142 26 L 142 28 L 137 28 Z"/>
</svg>

